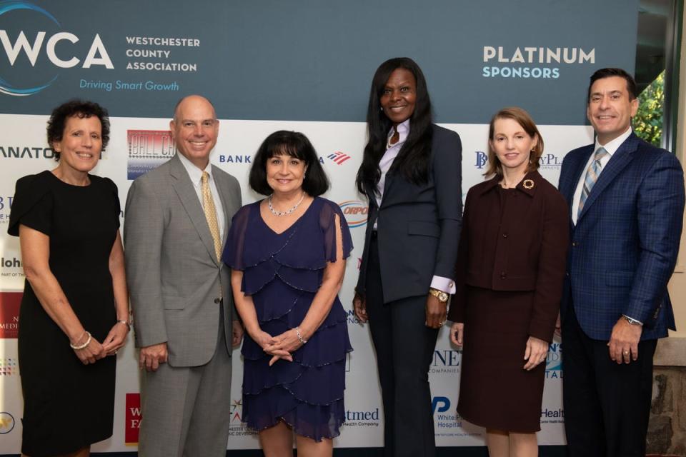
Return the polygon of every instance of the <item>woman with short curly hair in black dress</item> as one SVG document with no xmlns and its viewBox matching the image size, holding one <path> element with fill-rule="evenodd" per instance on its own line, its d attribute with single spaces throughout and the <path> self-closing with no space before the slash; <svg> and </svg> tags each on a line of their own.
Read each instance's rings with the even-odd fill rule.
<svg viewBox="0 0 686 457">
<path fill-rule="evenodd" d="M 8 229 L 26 273 L 21 452 L 82 457 L 112 434 L 114 355 L 129 332 L 119 198 L 111 180 L 89 174 L 109 140 L 101 106 L 58 106 L 47 134 L 59 164 L 17 181 Z"/>
</svg>

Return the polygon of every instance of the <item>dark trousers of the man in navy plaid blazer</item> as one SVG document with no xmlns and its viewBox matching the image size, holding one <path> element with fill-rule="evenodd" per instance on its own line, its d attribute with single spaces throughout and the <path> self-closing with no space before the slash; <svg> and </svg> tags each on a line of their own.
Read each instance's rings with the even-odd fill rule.
<svg viewBox="0 0 686 457">
<path fill-rule="evenodd" d="M 645 456 L 656 344 L 640 341 L 638 360 L 617 364 L 607 341 L 584 333 L 570 303 L 562 323 L 562 396 L 570 457 Z"/>
</svg>

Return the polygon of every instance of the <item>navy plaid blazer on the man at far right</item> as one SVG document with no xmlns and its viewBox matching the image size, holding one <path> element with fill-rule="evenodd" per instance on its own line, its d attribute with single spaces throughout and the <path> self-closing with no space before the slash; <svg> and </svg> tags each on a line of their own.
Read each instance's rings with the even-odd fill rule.
<svg viewBox="0 0 686 457">
<path fill-rule="evenodd" d="M 562 161 L 560 192 L 572 198 L 595 145 Z M 588 196 L 567 258 L 562 318 L 574 311 L 590 338 L 610 340 L 625 314 L 644 323 L 641 339 L 675 329 L 667 282 L 682 230 L 684 177 L 674 156 L 631 134 L 607 162 Z"/>
</svg>

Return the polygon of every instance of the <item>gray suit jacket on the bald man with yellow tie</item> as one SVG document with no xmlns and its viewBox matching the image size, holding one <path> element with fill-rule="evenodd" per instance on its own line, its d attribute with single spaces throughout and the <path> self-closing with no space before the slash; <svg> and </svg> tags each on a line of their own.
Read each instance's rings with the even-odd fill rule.
<svg viewBox="0 0 686 457">
<path fill-rule="evenodd" d="M 215 166 L 212 174 L 228 233 L 241 207 L 241 189 L 233 176 Z M 215 258 L 202 204 L 178 156 L 131 184 L 124 247 L 136 347 L 166 341 L 170 365 L 207 363 L 217 347 L 221 289 L 230 355 L 231 270 Z"/>
</svg>

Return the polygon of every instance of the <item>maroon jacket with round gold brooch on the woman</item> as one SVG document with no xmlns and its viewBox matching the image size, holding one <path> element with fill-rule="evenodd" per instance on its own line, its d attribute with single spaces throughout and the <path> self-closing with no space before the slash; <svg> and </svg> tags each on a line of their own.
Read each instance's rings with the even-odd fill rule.
<svg viewBox="0 0 686 457">
<path fill-rule="evenodd" d="M 531 291 L 529 335 L 552 341 L 567 262 L 567 202 L 537 171 L 517 185 L 501 219 L 502 195 L 497 177 L 467 193 L 448 318 L 464 322 L 467 286 Z"/>
</svg>

